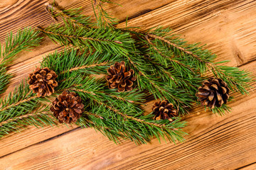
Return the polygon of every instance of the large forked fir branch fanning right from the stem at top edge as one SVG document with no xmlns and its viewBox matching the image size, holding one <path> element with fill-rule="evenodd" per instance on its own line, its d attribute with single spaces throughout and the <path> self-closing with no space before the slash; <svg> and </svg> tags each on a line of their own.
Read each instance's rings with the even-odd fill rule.
<svg viewBox="0 0 256 170">
<path fill-rule="evenodd" d="M 144 32 L 129 30 L 129 28 L 117 29 L 107 19 L 104 20 L 103 26 L 99 13 L 101 15 L 107 13 L 102 5 L 104 3 L 95 1 L 95 4 L 100 10 L 95 13 L 96 18 L 98 17 L 98 28 L 137 35 L 131 44 L 132 50 L 128 50 L 128 55 L 117 57 L 129 63 L 129 67 L 134 69 L 138 77 L 139 89 L 148 91 L 155 98 L 168 99 L 181 111 L 180 113 L 186 113 L 187 108 L 191 107 L 191 102 L 197 101 L 196 91 L 198 86 L 201 86 L 201 82 L 208 79 L 203 75 L 209 71 L 212 71 L 215 77 L 226 81 L 230 89 L 240 91 L 241 94 L 247 93 L 246 89 L 250 87 L 248 84 L 252 77 L 236 67 L 223 67 L 218 65 L 220 63 L 214 63 L 216 56 L 204 50 L 198 43 L 188 44 L 170 28 L 151 28 Z M 64 20 L 72 23 L 74 18 Z M 223 108 L 216 108 L 213 112 L 222 114 L 224 110 L 229 111 L 223 106 Z"/>
</svg>

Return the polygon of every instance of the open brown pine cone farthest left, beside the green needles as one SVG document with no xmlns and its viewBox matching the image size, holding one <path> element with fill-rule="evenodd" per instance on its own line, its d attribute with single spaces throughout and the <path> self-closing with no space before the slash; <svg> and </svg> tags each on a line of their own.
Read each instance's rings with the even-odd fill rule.
<svg viewBox="0 0 256 170">
<path fill-rule="evenodd" d="M 55 79 L 58 77 L 53 70 L 50 70 L 48 67 L 43 69 L 36 68 L 36 70 L 29 74 L 28 84 L 29 88 L 33 90 L 33 93 L 37 96 L 50 96 L 54 93 L 55 86 L 58 86 Z"/>
</svg>

